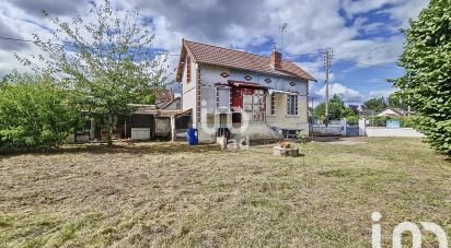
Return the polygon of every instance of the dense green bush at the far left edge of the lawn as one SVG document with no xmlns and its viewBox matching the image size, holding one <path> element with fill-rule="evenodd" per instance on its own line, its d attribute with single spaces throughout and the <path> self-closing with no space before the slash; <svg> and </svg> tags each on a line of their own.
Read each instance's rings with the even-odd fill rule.
<svg viewBox="0 0 451 248">
<path fill-rule="evenodd" d="M 80 120 L 68 93 L 43 79 L 22 79 L 0 87 L 0 151 L 61 145 Z"/>
</svg>

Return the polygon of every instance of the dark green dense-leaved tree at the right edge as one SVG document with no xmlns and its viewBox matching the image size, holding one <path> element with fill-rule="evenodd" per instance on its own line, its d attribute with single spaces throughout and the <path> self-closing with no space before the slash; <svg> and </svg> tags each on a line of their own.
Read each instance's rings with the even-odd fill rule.
<svg viewBox="0 0 451 248">
<path fill-rule="evenodd" d="M 451 155 L 451 4 L 431 0 L 418 21 L 402 31 L 406 42 L 395 86 L 409 95 L 417 127 L 430 144 Z"/>
</svg>

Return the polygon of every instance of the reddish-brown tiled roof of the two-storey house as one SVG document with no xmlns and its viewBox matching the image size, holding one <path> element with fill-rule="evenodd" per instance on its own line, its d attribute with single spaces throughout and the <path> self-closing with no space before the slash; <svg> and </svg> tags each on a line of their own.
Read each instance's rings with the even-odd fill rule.
<svg viewBox="0 0 451 248">
<path fill-rule="evenodd" d="M 265 74 L 290 76 L 301 80 L 316 81 L 312 75 L 302 70 L 299 66 L 290 61 L 282 61 L 281 69 L 270 66 L 269 57 L 254 55 L 250 52 L 232 50 L 228 48 L 183 40 L 181 60 L 186 55 L 185 49 L 193 56 L 197 63 L 218 66 L 239 70 L 248 70 Z M 181 67 L 181 66 L 180 66 Z M 181 68 L 178 68 L 177 81 L 181 81 Z"/>
</svg>

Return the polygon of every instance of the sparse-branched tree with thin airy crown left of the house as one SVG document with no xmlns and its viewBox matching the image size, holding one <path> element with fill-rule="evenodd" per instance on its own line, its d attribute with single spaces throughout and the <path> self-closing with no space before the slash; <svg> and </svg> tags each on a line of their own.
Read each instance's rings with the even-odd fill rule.
<svg viewBox="0 0 451 248">
<path fill-rule="evenodd" d="M 154 101 L 165 80 L 167 57 L 152 52 L 154 36 L 138 10 L 114 10 L 108 0 L 91 4 L 86 19 L 77 16 L 71 23 L 46 14 L 57 26 L 58 43 L 35 35 L 45 56 L 18 58 L 39 73 L 51 74 L 59 86 L 74 90 L 73 104 L 101 116 L 99 122 L 105 123 L 112 144 L 118 116 L 132 111 L 129 104 Z M 35 66 L 36 60 L 46 67 Z"/>
</svg>

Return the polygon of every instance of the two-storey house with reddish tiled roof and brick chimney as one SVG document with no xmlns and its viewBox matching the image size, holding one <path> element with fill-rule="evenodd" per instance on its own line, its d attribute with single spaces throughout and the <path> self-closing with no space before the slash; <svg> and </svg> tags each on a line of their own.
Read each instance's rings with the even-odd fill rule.
<svg viewBox="0 0 451 248">
<path fill-rule="evenodd" d="M 176 81 L 200 142 L 220 130 L 236 141 L 309 132 L 309 82 L 315 79 L 276 48 L 269 57 L 182 40 Z"/>
</svg>

